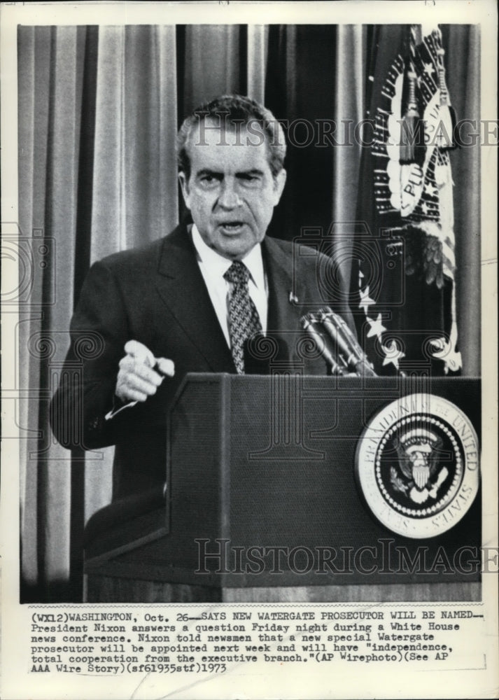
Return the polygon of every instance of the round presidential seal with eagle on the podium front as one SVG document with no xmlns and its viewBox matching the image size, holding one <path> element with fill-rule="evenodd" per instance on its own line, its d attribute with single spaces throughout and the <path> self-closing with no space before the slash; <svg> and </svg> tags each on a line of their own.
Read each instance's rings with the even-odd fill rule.
<svg viewBox="0 0 499 700">
<path fill-rule="evenodd" d="M 377 519 L 398 535 L 429 538 L 454 527 L 479 486 L 479 445 L 468 416 L 432 394 L 388 404 L 360 437 L 356 478 Z"/>
</svg>

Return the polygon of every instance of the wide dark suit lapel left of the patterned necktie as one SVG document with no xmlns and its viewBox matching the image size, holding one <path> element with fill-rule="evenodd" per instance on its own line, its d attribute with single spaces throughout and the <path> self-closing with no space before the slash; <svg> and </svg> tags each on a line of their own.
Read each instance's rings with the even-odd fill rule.
<svg viewBox="0 0 499 700">
<path fill-rule="evenodd" d="M 158 265 L 157 290 L 185 335 L 213 372 L 235 372 L 188 231 L 178 226 L 166 239 Z"/>
</svg>

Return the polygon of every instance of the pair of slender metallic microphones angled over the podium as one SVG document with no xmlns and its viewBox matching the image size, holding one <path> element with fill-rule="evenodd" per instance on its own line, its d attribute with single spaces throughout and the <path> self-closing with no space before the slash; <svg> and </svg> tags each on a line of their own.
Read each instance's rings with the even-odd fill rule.
<svg viewBox="0 0 499 700">
<path fill-rule="evenodd" d="M 309 311 L 302 316 L 302 326 L 321 349 L 331 374 L 377 377 L 349 325 L 330 307 Z"/>
</svg>

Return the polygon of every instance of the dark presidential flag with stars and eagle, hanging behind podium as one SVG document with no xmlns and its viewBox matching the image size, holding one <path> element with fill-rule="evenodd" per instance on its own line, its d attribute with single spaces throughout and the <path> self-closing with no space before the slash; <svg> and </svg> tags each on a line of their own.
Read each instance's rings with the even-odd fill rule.
<svg viewBox="0 0 499 700">
<path fill-rule="evenodd" d="M 370 28 L 351 306 L 379 374 L 456 374 L 451 153 L 440 27 Z"/>
</svg>

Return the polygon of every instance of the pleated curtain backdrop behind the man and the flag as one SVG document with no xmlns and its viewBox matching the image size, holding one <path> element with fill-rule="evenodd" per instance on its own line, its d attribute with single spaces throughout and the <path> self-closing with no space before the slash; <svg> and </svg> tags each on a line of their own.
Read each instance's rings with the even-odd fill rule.
<svg viewBox="0 0 499 700">
<path fill-rule="evenodd" d="M 293 130 L 270 235 L 293 239 L 302 227 L 328 232 L 332 221 L 353 221 L 361 148 L 307 143 L 306 122 L 365 116 L 372 36 L 353 25 L 20 27 L 20 228 L 42 266 L 30 306 L 20 308 L 17 338 L 21 386 L 32 397 L 19 418 L 27 435 L 23 601 L 80 599 L 83 527 L 111 498 L 113 449 L 69 454 L 48 427 L 89 265 L 174 227 L 182 212 L 179 121 L 223 92 L 265 102 Z M 477 29 L 451 28 L 447 51 L 458 114 L 479 118 Z M 477 149 L 453 159 L 461 350 L 464 373 L 477 374 L 479 195 L 470 187 L 479 176 Z"/>
</svg>

